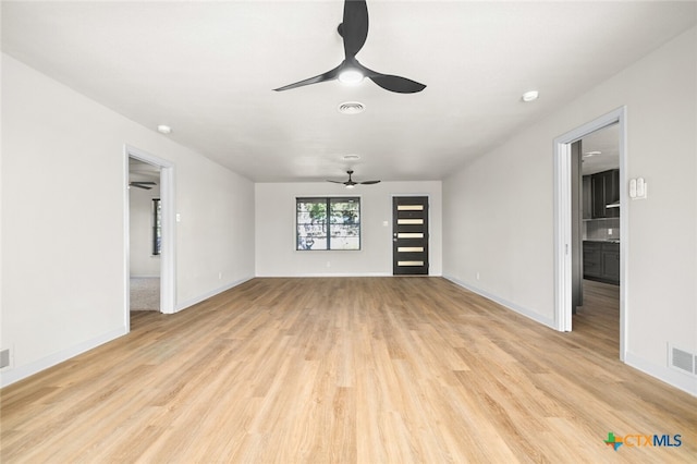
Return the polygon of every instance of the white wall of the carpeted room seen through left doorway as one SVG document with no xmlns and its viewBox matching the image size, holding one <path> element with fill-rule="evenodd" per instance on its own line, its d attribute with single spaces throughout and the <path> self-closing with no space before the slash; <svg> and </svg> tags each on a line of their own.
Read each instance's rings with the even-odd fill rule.
<svg viewBox="0 0 697 464">
<path fill-rule="evenodd" d="M 160 256 L 152 255 L 152 199 L 159 197 L 159 185 L 129 188 L 131 277 L 160 276 Z"/>
</svg>

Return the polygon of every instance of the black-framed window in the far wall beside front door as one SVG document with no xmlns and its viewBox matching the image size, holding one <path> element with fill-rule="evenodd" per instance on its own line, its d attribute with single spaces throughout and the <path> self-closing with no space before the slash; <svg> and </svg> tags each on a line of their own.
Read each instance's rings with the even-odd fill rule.
<svg viewBox="0 0 697 464">
<path fill-rule="evenodd" d="M 296 198 L 295 217 L 295 249 L 360 249 L 360 198 Z"/>
</svg>

